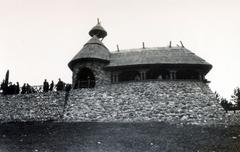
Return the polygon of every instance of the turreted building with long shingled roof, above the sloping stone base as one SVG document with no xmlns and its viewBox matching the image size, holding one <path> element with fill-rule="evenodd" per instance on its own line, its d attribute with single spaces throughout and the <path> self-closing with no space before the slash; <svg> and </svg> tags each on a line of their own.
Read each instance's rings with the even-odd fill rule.
<svg viewBox="0 0 240 152">
<path fill-rule="evenodd" d="M 102 43 L 106 30 L 97 23 L 92 37 L 69 62 L 73 88 L 93 88 L 111 83 L 148 80 L 207 82 L 212 65 L 183 45 L 109 51 Z"/>
</svg>

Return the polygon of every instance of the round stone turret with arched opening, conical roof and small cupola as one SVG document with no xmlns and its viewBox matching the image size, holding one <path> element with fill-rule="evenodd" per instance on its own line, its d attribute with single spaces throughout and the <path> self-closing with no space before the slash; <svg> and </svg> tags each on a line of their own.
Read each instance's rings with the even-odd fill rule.
<svg viewBox="0 0 240 152">
<path fill-rule="evenodd" d="M 72 85 L 74 89 L 93 88 L 96 85 L 109 83 L 107 79 L 109 76 L 103 67 L 109 64 L 110 52 L 101 41 L 107 36 L 107 32 L 99 20 L 97 25 L 89 31 L 89 35 L 92 38 L 68 64 L 73 72 Z"/>
</svg>

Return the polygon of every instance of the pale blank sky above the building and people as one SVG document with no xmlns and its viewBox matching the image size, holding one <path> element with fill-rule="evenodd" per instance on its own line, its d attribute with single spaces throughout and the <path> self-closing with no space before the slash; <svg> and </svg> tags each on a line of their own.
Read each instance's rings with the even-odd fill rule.
<svg viewBox="0 0 240 152">
<path fill-rule="evenodd" d="M 100 19 L 110 51 L 180 44 L 213 65 L 206 78 L 230 98 L 240 87 L 238 0 L 0 0 L 0 81 L 71 83 L 67 64 Z"/>
</svg>

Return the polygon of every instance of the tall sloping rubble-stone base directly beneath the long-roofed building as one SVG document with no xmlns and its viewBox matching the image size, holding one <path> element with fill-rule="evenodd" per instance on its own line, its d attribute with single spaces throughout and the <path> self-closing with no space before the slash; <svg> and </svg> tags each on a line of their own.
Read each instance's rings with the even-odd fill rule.
<svg viewBox="0 0 240 152">
<path fill-rule="evenodd" d="M 224 111 L 202 82 L 152 81 L 71 92 L 65 120 L 224 123 Z"/>
</svg>

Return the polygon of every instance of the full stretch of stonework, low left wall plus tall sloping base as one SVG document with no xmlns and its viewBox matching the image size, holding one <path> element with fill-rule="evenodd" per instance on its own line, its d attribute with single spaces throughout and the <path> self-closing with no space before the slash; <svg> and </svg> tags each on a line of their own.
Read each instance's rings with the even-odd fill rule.
<svg viewBox="0 0 240 152">
<path fill-rule="evenodd" d="M 0 119 L 239 123 L 239 113 L 226 114 L 209 87 L 197 81 L 146 81 L 72 90 L 63 113 L 64 100 L 65 92 L 0 97 Z"/>
</svg>

